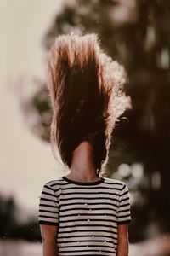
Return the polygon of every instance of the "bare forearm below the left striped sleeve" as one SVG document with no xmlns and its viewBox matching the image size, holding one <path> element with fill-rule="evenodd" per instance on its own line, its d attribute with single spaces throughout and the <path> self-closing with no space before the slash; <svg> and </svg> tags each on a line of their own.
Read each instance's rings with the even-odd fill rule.
<svg viewBox="0 0 170 256">
<path fill-rule="evenodd" d="M 43 256 L 57 256 L 57 227 L 54 225 L 40 225 Z"/>
</svg>

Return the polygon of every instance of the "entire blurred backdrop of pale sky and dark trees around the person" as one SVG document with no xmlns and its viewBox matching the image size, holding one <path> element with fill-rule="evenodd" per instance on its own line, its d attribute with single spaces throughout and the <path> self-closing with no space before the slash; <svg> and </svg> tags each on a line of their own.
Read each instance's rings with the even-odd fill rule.
<svg viewBox="0 0 170 256">
<path fill-rule="evenodd" d="M 98 33 L 127 70 L 133 109 L 113 132 L 107 177 L 131 193 L 130 256 L 170 255 L 170 2 L 2 0 L 0 20 L 0 256 L 42 255 L 39 195 L 64 174 L 49 144 L 46 56 L 70 32 Z"/>
</svg>

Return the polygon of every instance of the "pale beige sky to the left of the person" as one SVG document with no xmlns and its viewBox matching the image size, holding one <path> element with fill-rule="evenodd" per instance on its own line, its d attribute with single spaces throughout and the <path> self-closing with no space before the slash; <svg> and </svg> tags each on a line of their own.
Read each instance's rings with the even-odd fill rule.
<svg viewBox="0 0 170 256">
<path fill-rule="evenodd" d="M 60 3 L 0 1 L 0 195 L 13 195 L 29 209 L 37 209 L 42 185 L 64 173 L 57 170 L 50 145 L 26 126 L 14 82 L 22 75 L 46 78 L 42 36 Z"/>
</svg>

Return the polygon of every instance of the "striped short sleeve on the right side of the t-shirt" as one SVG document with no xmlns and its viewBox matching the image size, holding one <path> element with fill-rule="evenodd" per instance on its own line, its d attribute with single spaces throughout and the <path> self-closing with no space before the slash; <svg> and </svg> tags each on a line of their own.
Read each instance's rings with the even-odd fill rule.
<svg viewBox="0 0 170 256">
<path fill-rule="evenodd" d="M 117 224 L 130 224 L 131 210 L 130 210 L 130 194 L 127 185 L 123 183 L 122 191 L 119 196 L 118 210 L 117 210 Z"/>
</svg>

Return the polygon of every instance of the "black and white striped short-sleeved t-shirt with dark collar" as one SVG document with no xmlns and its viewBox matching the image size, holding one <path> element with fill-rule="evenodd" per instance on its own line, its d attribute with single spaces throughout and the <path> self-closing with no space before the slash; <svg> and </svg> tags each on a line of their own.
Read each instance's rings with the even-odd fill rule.
<svg viewBox="0 0 170 256">
<path fill-rule="evenodd" d="M 131 222 L 127 185 L 102 176 L 90 183 L 59 177 L 43 186 L 38 221 L 58 227 L 59 256 L 116 256 L 117 225 Z"/>
</svg>

